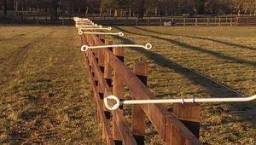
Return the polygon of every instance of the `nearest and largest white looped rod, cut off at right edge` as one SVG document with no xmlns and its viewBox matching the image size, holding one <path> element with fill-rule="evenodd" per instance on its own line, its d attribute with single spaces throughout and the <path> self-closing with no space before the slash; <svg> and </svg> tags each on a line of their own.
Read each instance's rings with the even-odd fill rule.
<svg viewBox="0 0 256 145">
<path fill-rule="evenodd" d="M 115 110 L 121 105 L 135 105 L 135 104 L 162 104 L 162 103 L 186 103 L 186 102 L 250 102 L 256 99 L 256 95 L 250 97 L 237 98 L 189 98 L 189 99 L 161 99 L 161 100 L 127 100 L 120 101 L 117 96 L 108 96 L 104 98 L 104 104 L 108 110 Z M 114 104 L 110 103 L 114 101 Z"/>
</svg>

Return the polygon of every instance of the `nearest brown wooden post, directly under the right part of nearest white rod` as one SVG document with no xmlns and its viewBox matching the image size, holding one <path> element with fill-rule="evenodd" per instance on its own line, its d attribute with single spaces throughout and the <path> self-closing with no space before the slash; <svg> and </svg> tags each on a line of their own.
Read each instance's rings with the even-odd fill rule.
<svg viewBox="0 0 256 145">
<path fill-rule="evenodd" d="M 197 103 L 173 104 L 173 113 L 189 131 L 199 138 L 200 109 Z"/>
</svg>

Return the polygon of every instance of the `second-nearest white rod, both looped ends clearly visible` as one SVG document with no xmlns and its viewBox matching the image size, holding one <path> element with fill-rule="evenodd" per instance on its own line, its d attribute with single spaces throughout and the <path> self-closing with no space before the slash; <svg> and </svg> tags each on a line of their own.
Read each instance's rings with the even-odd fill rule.
<svg viewBox="0 0 256 145">
<path fill-rule="evenodd" d="M 88 49 L 106 49 L 106 48 L 143 48 L 143 49 L 152 49 L 152 44 L 145 45 L 135 45 L 135 44 L 113 44 L 113 45 L 98 45 L 98 46 L 88 46 L 83 45 L 81 51 L 87 51 Z"/>
</svg>

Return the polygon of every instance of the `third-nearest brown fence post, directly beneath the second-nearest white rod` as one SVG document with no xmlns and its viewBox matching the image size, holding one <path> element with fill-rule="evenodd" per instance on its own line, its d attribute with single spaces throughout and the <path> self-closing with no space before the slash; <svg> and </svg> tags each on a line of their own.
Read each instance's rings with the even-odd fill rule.
<svg viewBox="0 0 256 145">
<path fill-rule="evenodd" d="M 117 56 L 120 61 L 124 62 L 123 48 L 114 48 L 113 55 Z M 117 96 L 119 99 L 122 99 L 124 96 L 124 86 L 122 78 L 116 73 L 117 71 L 119 70 L 113 70 L 113 96 Z M 122 136 L 120 136 L 118 126 L 115 122 L 116 118 L 117 116 L 113 113 L 113 140 L 115 140 L 116 144 L 122 144 Z"/>
</svg>

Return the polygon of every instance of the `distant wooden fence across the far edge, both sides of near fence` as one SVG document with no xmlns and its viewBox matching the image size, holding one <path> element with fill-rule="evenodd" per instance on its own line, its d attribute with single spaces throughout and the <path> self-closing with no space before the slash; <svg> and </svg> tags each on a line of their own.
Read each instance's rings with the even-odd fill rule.
<svg viewBox="0 0 256 145">
<path fill-rule="evenodd" d="M 164 26 L 164 22 L 174 21 L 176 26 L 256 26 L 256 16 L 215 16 L 215 17 L 109 17 L 92 16 L 98 24 L 108 26 Z M 3 14 L 0 14 L 2 23 L 21 23 L 21 24 L 56 24 L 72 25 L 73 16 L 61 15 L 60 20 L 51 21 L 47 13 L 10 13 L 7 20 L 3 20 Z"/>
</svg>

